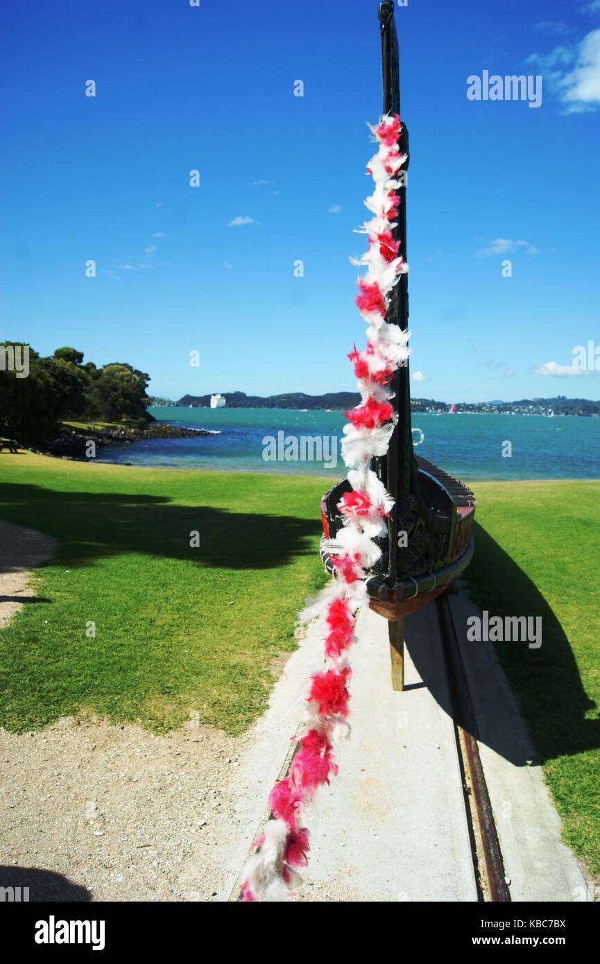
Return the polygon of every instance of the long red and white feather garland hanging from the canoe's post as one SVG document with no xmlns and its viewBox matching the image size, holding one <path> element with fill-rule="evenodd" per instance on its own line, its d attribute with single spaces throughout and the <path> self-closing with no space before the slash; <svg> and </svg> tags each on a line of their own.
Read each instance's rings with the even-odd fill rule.
<svg viewBox="0 0 600 964">
<path fill-rule="evenodd" d="M 267 822 L 242 873 L 242 899 L 247 902 L 286 900 L 300 882 L 297 868 L 308 864 L 309 831 L 303 825 L 304 814 L 316 790 L 329 784 L 338 772 L 334 746 L 349 732 L 348 651 L 356 639 L 356 614 L 368 602 L 368 570 L 381 555 L 374 539 L 385 533 L 394 506 L 394 499 L 368 465 L 374 456 L 388 451 L 396 420 L 390 381 L 410 354 L 409 333 L 386 320 L 388 296 L 399 276 L 408 271 L 393 233 L 400 200 L 395 175 L 406 155 L 398 149 L 402 125 L 397 115 L 382 117 L 370 130 L 378 149 L 368 162 L 375 188 L 365 204 L 373 216 L 358 229 L 368 236 L 368 251 L 360 258 L 350 258 L 353 264 L 367 268 L 358 281 L 356 305 L 368 325 L 366 349 L 358 351 L 354 345 L 348 356 L 362 399 L 346 413 L 348 424 L 341 441 L 352 491 L 341 497 L 343 527 L 326 546 L 335 577 L 322 593 L 307 600 L 300 613 L 303 623 L 322 621 L 326 661 L 308 683 L 301 731 L 295 737 L 298 749 L 289 772 L 269 795 L 274 819 Z"/>
</svg>

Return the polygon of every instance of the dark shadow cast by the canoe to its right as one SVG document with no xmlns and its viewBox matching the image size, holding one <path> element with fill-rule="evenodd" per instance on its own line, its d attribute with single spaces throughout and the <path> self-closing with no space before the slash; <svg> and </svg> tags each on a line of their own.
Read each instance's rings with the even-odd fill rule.
<svg viewBox="0 0 600 964">
<path fill-rule="evenodd" d="M 596 718 L 586 718 L 590 710 L 596 710 L 596 704 L 586 695 L 559 618 L 532 579 L 477 523 L 475 537 L 475 557 L 466 576 L 470 594 L 479 608 L 486 609 L 490 617 L 541 616 L 542 619 L 539 649 L 529 649 L 527 642 L 495 644 L 529 727 L 536 759 L 545 762 L 598 748 L 600 719 L 597 714 Z M 423 682 L 442 709 L 451 715 L 445 674 L 440 673 L 444 657 L 435 646 L 423 645 L 422 625 L 415 617 L 407 618 L 407 647 Z M 493 644 L 472 645 L 491 647 Z M 489 658 L 492 658 L 491 652 Z M 509 707 L 499 708 L 483 741 L 519 766 L 527 765 L 532 757 L 530 740 L 511 716 Z"/>
</svg>

